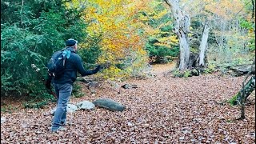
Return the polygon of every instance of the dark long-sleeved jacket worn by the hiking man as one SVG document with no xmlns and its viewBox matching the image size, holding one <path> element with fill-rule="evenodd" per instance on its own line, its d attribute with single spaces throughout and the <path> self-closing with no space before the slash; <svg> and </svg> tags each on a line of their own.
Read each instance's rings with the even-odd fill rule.
<svg viewBox="0 0 256 144">
<path fill-rule="evenodd" d="M 82 77 L 86 75 L 96 74 L 100 69 L 100 66 L 97 66 L 94 70 L 85 70 L 82 64 L 82 58 L 76 54 L 76 51 L 73 47 L 66 47 L 64 50 L 70 50 L 70 58 L 66 59 L 66 69 L 61 78 L 52 78 L 52 82 L 58 84 L 70 83 L 73 85 L 73 82 L 77 78 L 77 74 L 81 74 Z M 61 51 L 57 51 L 54 54 L 59 54 Z M 54 55 L 53 55 L 54 57 Z"/>
</svg>

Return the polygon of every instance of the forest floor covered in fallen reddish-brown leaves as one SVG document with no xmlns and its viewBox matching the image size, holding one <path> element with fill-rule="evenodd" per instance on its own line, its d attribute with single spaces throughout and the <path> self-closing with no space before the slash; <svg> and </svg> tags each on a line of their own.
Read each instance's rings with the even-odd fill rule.
<svg viewBox="0 0 256 144">
<path fill-rule="evenodd" d="M 173 64 L 154 65 L 153 77 L 102 82 L 96 94 L 82 84 L 85 96 L 71 103 L 111 98 L 126 106 L 122 112 L 96 107 L 67 115 L 66 131 L 50 133 L 55 103 L 44 109 L 23 109 L 16 104 L 11 113 L 1 112 L 1 143 L 254 143 L 255 96 L 249 97 L 246 119 L 240 107 L 226 100 L 241 89 L 242 77 L 202 74 L 173 78 L 166 73 Z M 124 84 L 138 88 L 123 89 Z M 14 107 L 14 105 L 13 105 Z"/>
</svg>

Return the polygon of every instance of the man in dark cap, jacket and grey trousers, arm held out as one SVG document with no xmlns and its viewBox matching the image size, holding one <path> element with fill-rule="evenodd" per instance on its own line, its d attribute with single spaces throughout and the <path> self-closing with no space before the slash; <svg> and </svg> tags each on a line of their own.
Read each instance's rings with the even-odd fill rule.
<svg viewBox="0 0 256 144">
<path fill-rule="evenodd" d="M 101 66 L 97 66 L 94 70 L 85 70 L 82 65 L 82 58 L 76 54 L 78 50 L 78 41 L 70 38 L 66 40 L 66 49 L 69 51 L 66 54 L 65 70 L 60 78 L 49 77 L 46 82 L 46 87 L 50 87 L 50 80 L 54 83 L 54 89 L 58 97 L 57 109 L 54 114 L 51 131 L 65 130 L 63 125 L 66 124 L 66 106 L 70 100 L 70 95 L 73 90 L 73 83 L 77 78 L 77 72 L 82 76 L 96 74 Z"/>
</svg>

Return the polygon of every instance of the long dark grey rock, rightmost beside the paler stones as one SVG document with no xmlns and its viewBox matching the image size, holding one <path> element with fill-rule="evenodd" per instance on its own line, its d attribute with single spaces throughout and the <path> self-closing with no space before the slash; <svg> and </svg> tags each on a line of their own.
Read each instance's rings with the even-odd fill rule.
<svg viewBox="0 0 256 144">
<path fill-rule="evenodd" d="M 95 100 L 93 103 L 95 106 L 103 107 L 113 111 L 114 110 L 122 111 L 126 108 L 125 106 L 122 106 L 122 104 L 118 102 L 114 102 L 110 98 L 99 98 Z"/>
</svg>

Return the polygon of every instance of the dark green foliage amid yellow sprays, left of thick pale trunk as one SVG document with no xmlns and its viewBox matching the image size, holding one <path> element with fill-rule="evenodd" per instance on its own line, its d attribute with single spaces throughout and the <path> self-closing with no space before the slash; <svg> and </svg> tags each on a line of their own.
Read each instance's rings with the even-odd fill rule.
<svg viewBox="0 0 256 144">
<path fill-rule="evenodd" d="M 165 9 L 166 8 L 161 5 L 161 2 L 155 6 L 156 11 L 164 11 Z M 150 17 L 146 23 L 154 28 L 154 30 L 158 30 L 158 33 L 149 35 L 147 38 L 145 48 L 150 54 L 150 57 L 156 57 L 158 59 L 157 62 L 161 63 L 166 63 L 166 56 L 177 57 L 179 54 L 178 43 L 170 42 L 169 38 L 172 35 L 176 35 L 172 33 L 174 26 L 172 25 L 173 19 L 170 18 L 170 13 L 163 14 L 160 18 L 154 18 L 154 16 L 158 15 L 157 13 L 146 14 L 145 12 L 144 15 Z M 170 44 L 158 45 L 157 43 L 161 41 L 160 39 L 164 38 L 166 38 L 165 41 L 170 42 Z"/>
</svg>

